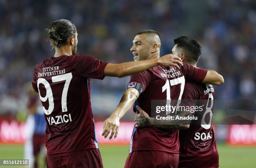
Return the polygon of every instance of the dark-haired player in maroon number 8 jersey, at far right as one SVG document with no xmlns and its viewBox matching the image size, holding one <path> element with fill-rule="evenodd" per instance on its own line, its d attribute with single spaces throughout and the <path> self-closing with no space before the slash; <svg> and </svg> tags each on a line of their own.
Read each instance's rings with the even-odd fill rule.
<svg viewBox="0 0 256 168">
<path fill-rule="evenodd" d="M 182 36 L 174 39 L 172 53 L 182 58 L 183 63 L 197 67 L 201 45 L 197 40 Z M 202 106 L 202 112 L 193 113 L 197 120 L 187 130 L 179 131 L 179 168 L 218 168 L 219 155 L 212 129 L 213 104 L 215 99 L 212 85 L 186 82 L 182 99 L 185 106 Z"/>
</svg>

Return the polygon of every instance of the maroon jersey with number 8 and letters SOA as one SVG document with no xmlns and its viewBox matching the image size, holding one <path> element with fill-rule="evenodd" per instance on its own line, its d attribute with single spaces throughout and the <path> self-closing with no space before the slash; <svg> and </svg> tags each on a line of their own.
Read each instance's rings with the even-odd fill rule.
<svg viewBox="0 0 256 168">
<path fill-rule="evenodd" d="M 202 106 L 194 115 L 189 129 L 179 132 L 179 168 L 217 168 L 219 156 L 212 129 L 215 93 L 212 85 L 186 82 L 184 105 Z M 201 124 L 201 125 L 200 125 Z"/>
</svg>

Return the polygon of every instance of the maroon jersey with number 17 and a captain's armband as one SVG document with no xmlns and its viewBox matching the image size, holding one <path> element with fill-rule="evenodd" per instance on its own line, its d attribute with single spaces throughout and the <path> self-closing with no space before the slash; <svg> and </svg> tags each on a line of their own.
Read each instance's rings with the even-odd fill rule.
<svg viewBox="0 0 256 168">
<path fill-rule="evenodd" d="M 156 66 L 136 75 L 131 75 L 128 88 L 139 89 L 141 93 L 135 105 L 139 105 L 151 116 L 151 100 L 178 100 L 182 98 L 185 78 L 189 81 L 202 82 L 207 70 L 184 64 L 181 69 Z M 134 109 L 136 111 L 136 109 Z M 179 133 L 177 130 L 166 131 L 159 128 L 134 128 L 130 153 L 138 150 L 159 150 L 179 153 Z"/>
</svg>

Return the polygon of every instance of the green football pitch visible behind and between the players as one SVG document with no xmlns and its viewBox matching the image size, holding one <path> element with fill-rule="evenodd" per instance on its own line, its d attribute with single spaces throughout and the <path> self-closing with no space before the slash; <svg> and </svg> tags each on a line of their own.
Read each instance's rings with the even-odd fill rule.
<svg viewBox="0 0 256 168">
<path fill-rule="evenodd" d="M 218 143 L 220 168 L 256 168 L 256 147 L 228 146 Z M 123 168 L 128 156 L 128 145 L 100 145 L 104 168 Z M 22 159 L 23 145 L 0 145 L 0 159 Z M 22 168 L 0 166 L 0 168 Z"/>
</svg>

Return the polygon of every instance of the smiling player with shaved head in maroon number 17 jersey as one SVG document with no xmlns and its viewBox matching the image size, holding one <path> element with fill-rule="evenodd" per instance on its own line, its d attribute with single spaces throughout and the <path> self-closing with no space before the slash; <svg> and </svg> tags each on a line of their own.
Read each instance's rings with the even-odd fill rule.
<svg viewBox="0 0 256 168">
<path fill-rule="evenodd" d="M 137 33 L 131 51 L 135 61 L 158 58 L 161 40 L 154 30 Z M 140 105 L 151 115 L 151 100 L 181 99 L 185 79 L 198 83 L 223 83 L 221 75 L 213 70 L 203 70 L 183 64 L 176 67 L 156 66 L 136 75 L 131 75 L 127 90 L 118 107 L 104 122 L 102 136 L 110 134 L 110 139 L 117 137 L 119 120 L 131 108 L 132 104 Z M 134 108 L 134 111 L 137 111 Z M 178 131 L 166 131 L 154 126 L 135 128 L 133 130 L 130 151 L 125 168 L 177 168 L 179 161 Z M 144 160 L 144 161 L 142 161 Z M 147 160 L 147 161 L 146 161 Z"/>
</svg>

